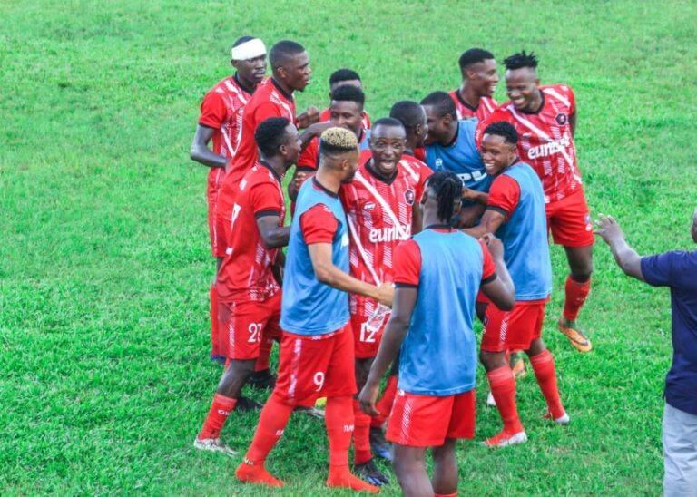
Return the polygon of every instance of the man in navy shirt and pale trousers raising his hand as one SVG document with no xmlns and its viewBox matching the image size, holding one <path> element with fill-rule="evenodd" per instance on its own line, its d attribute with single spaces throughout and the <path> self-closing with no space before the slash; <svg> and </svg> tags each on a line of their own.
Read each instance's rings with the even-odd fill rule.
<svg viewBox="0 0 697 497">
<path fill-rule="evenodd" d="M 624 273 L 671 288 L 672 365 L 665 378 L 663 493 L 697 495 L 697 250 L 640 257 L 612 217 L 600 215 L 595 234 L 612 248 Z M 692 214 L 697 243 L 697 210 Z"/>
</svg>

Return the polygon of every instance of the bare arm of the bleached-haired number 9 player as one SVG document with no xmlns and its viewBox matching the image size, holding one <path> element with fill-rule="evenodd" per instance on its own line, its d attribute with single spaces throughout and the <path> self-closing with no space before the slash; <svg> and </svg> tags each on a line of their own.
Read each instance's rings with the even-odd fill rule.
<svg viewBox="0 0 697 497">
<path fill-rule="evenodd" d="M 394 288 L 389 284 L 379 287 L 370 285 L 349 276 L 348 273 L 334 266 L 334 262 L 331 259 L 332 248 L 330 243 L 310 243 L 308 250 L 315 277 L 320 282 L 345 292 L 375 298 L 380 304 L 392 307 Z"/>
</svg>

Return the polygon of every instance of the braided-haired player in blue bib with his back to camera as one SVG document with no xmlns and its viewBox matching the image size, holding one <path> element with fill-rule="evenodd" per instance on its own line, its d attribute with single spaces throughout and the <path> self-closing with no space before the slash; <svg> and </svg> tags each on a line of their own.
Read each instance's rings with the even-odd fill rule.
<svg viewBox="0 0 697 497">
<path fill-rule="evenodd" d="M 456 495 L 456 439 L 472 438 L 475 428 L 476 294 L 481 288 L 506 309 L 515 301 L 500 240 L 477 240 L 450 227 L 461 197 L 454 172 L 436 171 L 427 180 L 421 200 L 426 228 L 395 252 L 392 316 L 358 397 L 367 414 L 377 413 L 380 378 L 399 350 L 399 390 L 387 437 L 395 443 L 392 466 L 405 495 Z"/>
</svg>

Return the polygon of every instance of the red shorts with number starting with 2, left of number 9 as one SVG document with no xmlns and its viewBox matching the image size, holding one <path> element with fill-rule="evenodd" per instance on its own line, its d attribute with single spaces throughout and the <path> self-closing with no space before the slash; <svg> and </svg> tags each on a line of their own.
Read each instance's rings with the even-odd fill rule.
<svg viewBox="0 0 697 497">
<path fill-rule="evenodd" d="M 218 302 L 221 355 L 256 359 L 262 340 L 280 337 L 279 320 L 280 292 L 264 302 Z"/>
</svg>

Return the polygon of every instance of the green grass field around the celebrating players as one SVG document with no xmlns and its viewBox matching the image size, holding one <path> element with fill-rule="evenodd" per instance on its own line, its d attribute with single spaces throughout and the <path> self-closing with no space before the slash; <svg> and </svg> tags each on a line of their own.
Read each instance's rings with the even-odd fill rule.
<svg viewBox="0 0 697 497">
<path fill-rule="evenodd" d="M 696 16 L 691 2 L 619 0 L 4 0 L 0 493 L 264 493 L 234 481 L 240 457 L 191 447 L 221 369 L 208 361 L 206 169 L 188 150 L 239 35 L 307 47 L 313 83 L 299 109 L 325 106 L 329 73 L 356 69 L 373 118 L 455 88 L 470 46 L 499 61 L 535 51 L 543 82 L 576 92 L 592 213 L 613 214 L 640 252 L 655 253 L 692 247 Z M 530 442 L 461 443 L 460 492 L 657 494 L 668 293 L 624 278 L 599 243 L 581 316 L 594 351 L 580 355 L 555 330 L 560 248 L 553 258 L 545 339 L 572 424 L 540 419 L 544 400 L 525 376 Z M 500 425 L 481 368 L 479 382 L 476 441 Z M 222 437 L 243 452 L 257 419 L 233 414 Z M 290 483 L 282 493 L 321 495 L 332 493 L 326 461 L 323 424 L 296 415 L 268 465 Z M 384 493 L 398 492 L 394 482 Z"/>
</svg>

